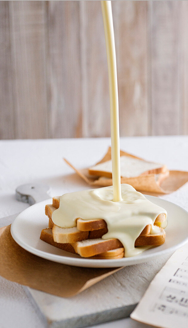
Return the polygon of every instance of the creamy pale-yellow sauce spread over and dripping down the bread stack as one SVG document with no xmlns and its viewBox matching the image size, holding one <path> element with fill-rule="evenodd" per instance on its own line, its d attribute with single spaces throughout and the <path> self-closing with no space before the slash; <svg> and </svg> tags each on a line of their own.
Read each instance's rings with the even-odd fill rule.
<svg viewBox="0 0 188 328">
<path fill-rule="evenodd" d="M 128 184 L 121 185 L 122 200 L 113 201 L 113 187 L 90 189 L 60 197 L 59 208 L 52 213 L 52 221 L 61 228 L 76 226 L 76 219 L 104 219 L 108 233 L 103 239 L 117 238 L 123 244 L 125 256 L 135 256 L 145 248 L 135 248 L 135 240 L 146 225 L 153 224 L 166 210 L 150 202 Z"/>
</svg>

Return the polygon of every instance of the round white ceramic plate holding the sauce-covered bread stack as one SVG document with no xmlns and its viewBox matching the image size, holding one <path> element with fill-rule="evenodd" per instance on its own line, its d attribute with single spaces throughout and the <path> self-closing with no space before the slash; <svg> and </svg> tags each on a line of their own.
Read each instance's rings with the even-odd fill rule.
<svg viewBox="0 0 188 328">
<path fill-rule="evenodd" d="M 173 252 L 188 241 L 188 212 L 167 200 L 148 195 L 146 197 L 167 210 L 168 226 L 165 229 L 165 243 L 148 249 L 139 256 L 114 260 L 81 258 L 40 240 L 41 230 L 48 227 L 48 217 L 44 213 L 45 205 L 52 203 L 52 199 L 32 205 L 19 214 L 13 221 L 10 232 L 14 240 L 30 253 L 63 264 L 91 268 L 110 268 L 146 262 Z"/>
</svg>

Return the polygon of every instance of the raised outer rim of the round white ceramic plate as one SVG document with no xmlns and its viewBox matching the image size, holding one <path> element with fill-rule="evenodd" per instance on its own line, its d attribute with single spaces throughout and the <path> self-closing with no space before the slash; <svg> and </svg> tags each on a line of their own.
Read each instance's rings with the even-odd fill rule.
<svg viewBox="0 0 188 328">
<path fill-rule="evenodd" d="M 183 210 L 188 215 L 188 211 L 182 208 L 181 206 L 177 205 L 176 203 L 173 203 L 169 200 L 159 198 L 156 196 L 152 195 L 144 195 L 145 197 L 152 197 L 152 198 L 157 198 L 161 199 L 162 201 L 168 202 L 170 204 L 173 204 Z M 35 203 L 32 206 L 39 205 L 48 201 L 51 201 L 52 198 L 43 200 L 39 203 Z M 19 215 L 23 214 L 25 211 L 28 211 L 28 209 L 31 209 L 32 206 L 28 207 L 24 211 L 22 211 Z M 188 236 L 184 238 L 181 242 L 179 242 L 176 245 L 173 245 L 167 249 L 157 251 L 155 253 L 150 253 L 150 254 L 145 254 L 143 256 L 131 256 L 131 257 L 123 257 L 120 259 L 90 259 L 90 258 L 77 258 L 77 257 L 69 257 L 69 256 L 63 256 L 63 255 L 57 255 L 57 254 L 52 254 L 46 251 L 41 251 L 33 246 L 28 245 L 27 243 L 23 242 L 19 238 L 17 238 L 16 234 L 14 233 L 14 225 L 15 222 L 17 221 L 19 215 L 16 216 L 16 218 L 13 220 L 11 227 L 10 227 L 10 233 L 12 238 L 15 240 L 15 242 L 21 246 L 23 249 L 26 251 L 30 252 L 31 254 L 34 254 L 36 256 L 39 256 L 41 258 L 45 258 L 47 260 L 61 263 L 61 264 L 66 264 L 66 265 L 72 265 L 72 266 L 77 266 L 77 267 L 91 267 L 91 268 L 112 268 L 112 267 L 125 267 L 128 265 L 135 265 L 143 262 L 147 262 L 150 259 L 157 258 L 159 256 L 162 256 L 164 254 L 169 254 L 171 252 L 174 252 L 177 250 L 179 247 L 182 247 L 186 242 L 188 242 Z M 159 246 L 160 247 L 160 246 Z M 143 254 L 143 253 L 142 253 Z M 134 262 L 134 263 L 131 263 Z"/>
</svg>

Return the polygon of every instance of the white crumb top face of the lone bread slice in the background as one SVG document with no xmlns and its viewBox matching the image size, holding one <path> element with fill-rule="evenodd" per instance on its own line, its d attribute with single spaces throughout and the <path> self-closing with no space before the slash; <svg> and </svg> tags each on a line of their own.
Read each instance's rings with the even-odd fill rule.
<svg viewBox="0 0 188 328">
<path fill-rule="evenodd" d="M 120 157 L 120 168 L 122 177 L 132 178 L 135 176 L 139 176 L 144 172 L 161 168 L 162 166 L 162 164 L 150 163 L 130 156 Z M 104 163 L 97 164 L 91 167 L 90 170 L 112 173 L 112 161 L 110 160 Z"/>
</svg>

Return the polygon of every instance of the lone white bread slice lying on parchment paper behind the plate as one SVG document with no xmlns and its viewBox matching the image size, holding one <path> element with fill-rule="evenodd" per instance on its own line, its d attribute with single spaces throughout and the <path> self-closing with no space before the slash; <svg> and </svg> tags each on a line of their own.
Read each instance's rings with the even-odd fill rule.
<svg viewBox="0 0 188 328">
<path fill-rule="evenodd" d="M 163 164 L 157 164 L 136 158 L 129 154 L 120 156 L 121 177 L 132 178 L 143 174 L 159 174 L 167 171 Z M 98 163 L 89 168 L 89 174 L 112 178 L 112 160 Z"/>
</svg>

